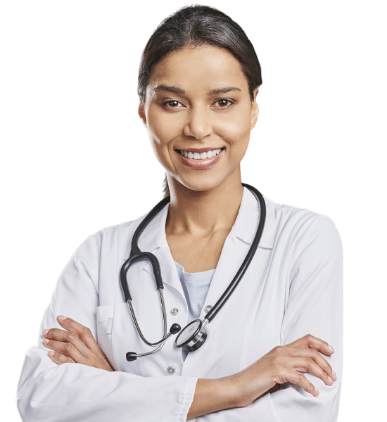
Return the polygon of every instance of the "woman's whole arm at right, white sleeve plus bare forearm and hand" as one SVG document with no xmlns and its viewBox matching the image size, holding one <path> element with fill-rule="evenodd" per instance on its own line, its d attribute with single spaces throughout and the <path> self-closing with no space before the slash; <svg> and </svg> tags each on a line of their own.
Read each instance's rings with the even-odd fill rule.
<svg viewBox="0 0 387 422">
<path fill-rule="evenodd" d="M 189 417 L 203 414 L 203 409 L 207 408 L 211 411 L 229 409 L 227 417 L 243 421 L 337 420 L 343 369 L 343 249 L 338 231 L 329 217 L 316 217 L 300 230 L 289 263 L 288 284 L 281 344 L 296 345 L 297 355 L 294 347 L 291 354 L 294 357 L 303 355 L 304 364 L 294 366 L 292 359 L 281 356 L 284 347 L 276 347 L 235 376 L 198 380 Z M 307 333 L 327 340 L 335 352 L 329 350 L 328 343 L 312 340 Z M 326 355 L 325 359 L 317 350 Z M 310 359 L 317 359 L 317 367 L 310 366 Z M 267 367 L 265 363 L 268 363 Z M 337 376 L 331 372 L 331 367 Z M 289 373 L 291 369 L 293 374 Z M 334 382 L 327 376 L 331 376 Z M 275 388 L 269 390 L 273 378 L 279 384 L 278 391 L 274 391 Z M 318 395 L 313 394 L 314 387 L 319 390 Z M 272 394 L 262 394 L 263 390 Z M 259 398 L 253 401 L 251 395 Z M 243 403 L 246 397 L 248 401 Z M 231 409 L 246 404 L 243 409 Z M 222 412 L 219 415 L 222 418 Z"/>
</svg>

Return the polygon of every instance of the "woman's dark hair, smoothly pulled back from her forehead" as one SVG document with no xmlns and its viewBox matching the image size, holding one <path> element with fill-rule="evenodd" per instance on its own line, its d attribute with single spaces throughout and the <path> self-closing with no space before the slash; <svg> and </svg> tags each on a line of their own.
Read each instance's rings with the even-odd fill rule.
<svg viewBox="0 0 387 422">
<path fill-rule="evenodd" d="M 214 6 L 187 4 L 168 15 L 152 32 L 141 53 L 137 74 L 137 94 L 145 102 L 151 72 L 160 60 L 172 51 L 203 45 L 229 50 L 241 63 L 248 82 L 251 101 L 253 90 L 262 84 L 260 60 L 248 34 L 231 16 Z M 169 194 L 164 174 L 163 197 Z"/>
</svg>

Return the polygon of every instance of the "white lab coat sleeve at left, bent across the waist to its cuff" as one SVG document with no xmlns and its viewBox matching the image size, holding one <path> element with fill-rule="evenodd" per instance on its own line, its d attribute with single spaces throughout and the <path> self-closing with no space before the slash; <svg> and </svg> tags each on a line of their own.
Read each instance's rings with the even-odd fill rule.
<svg viewBox="0 0 387 422">
<path fill-rule="evenodd" d="M 186 421 L 196 378 L 141 377 L 82 364 L 57 365 L 42 345 L 42 330 L 61 328 L 62 314 L 91 329 L 96 338 L 101 238 L 89 236 L 63 269 L 42 319 L 37 347 L 25 354 L 18 382 L 22 421 Z"/>
</svg>

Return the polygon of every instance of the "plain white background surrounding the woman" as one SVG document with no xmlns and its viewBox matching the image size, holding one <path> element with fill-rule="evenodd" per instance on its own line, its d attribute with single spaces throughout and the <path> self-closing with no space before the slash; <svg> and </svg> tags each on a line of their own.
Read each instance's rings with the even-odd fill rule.
<svg viewBox="0 0 387 422">
<path fill-rule="evenodd" d="M 137 67 L 153 27 L 181 4 L 1 2 L 4 421 L 19 420 L 23 356 L 37 342 L 72 252 L 89 234 L 139 217 L 160 199 L 163 172 L 137 117 Z M 341 233 L 339 422 L 373 419 L 383 403 L 378 374 L 385 367 L 378 303 L 386 292 L 385 13 L 360 1 L 211 4 L 243 26 L 263 69 L 243 181 L 276 202 L 329 215 Z"/>
</svg>

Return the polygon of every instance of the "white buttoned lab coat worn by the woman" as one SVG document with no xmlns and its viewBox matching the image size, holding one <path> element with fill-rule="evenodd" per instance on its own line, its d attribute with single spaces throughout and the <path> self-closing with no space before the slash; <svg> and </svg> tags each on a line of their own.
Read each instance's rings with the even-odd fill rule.
<svg viewBox="0 0 387 422">
<path fill-rule="evenodd" d="M 320 394 L 285 384 L 243 409 L 196 418 L 201 422 L 332 422 L 338 417 L 343 369 L 343 249 L 334 222 L 324 215 L 265 198 L 267 219 L 259 248 L 241 283 L 213 321 L 208 338 L 185 362 L 168 340 L 160 352 L 127 362 L 128 351 L 150 348 L 135 331 L 119 281 L 141 217 L 89 236 L 63 269 L 42 319 L 37 347 L 27 350 L 18 383 L 23 421 L 186 421 L 198 378 L 220 378 L 246 368 L 277 345 L 311 333 L 333 345 L 326 359 L 338 381 L 325 385 L 307 374 Z M 185 326 L 188 309 L 165 238 L 168 206 L 146 227 L 141 250 L 160 260 L 167 326 Z M 243 262 L 258 226 L 259 207 L 244 188 L 205 306 L 214 305 Z M 148 340 L 163 332 L 151 264 L 129 270 L 137 319 Z M 205 316 L 204 307 L 201 318 Z M 177 315 L 170 309 L 177 308 Z M 58 366 L 42 345 L 42 330 L 63 314 L 91 329 L 115 372 L 82 364 Z M 169 374 L 173 367 L 175 373 Z M 171 370 L 170 370 L 171 371 Z"/>
</svg>

